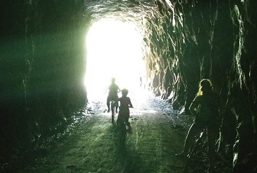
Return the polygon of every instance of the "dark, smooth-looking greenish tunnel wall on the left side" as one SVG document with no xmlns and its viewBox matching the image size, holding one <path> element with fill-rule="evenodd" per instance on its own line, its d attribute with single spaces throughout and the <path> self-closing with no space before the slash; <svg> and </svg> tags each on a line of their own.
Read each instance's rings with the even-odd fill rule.
<svg viewBox="0 0 257 173">
<path fill-rule="evenodd" d="M 85 105 L 82 21 L 89 19 L 83 1 L 0 4 L 1 171 L 7 158 L 24 157 L 21 150 L 59 133 Z"/>
</svg>

